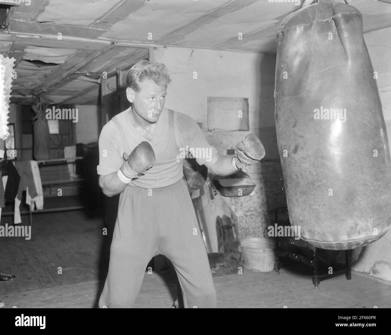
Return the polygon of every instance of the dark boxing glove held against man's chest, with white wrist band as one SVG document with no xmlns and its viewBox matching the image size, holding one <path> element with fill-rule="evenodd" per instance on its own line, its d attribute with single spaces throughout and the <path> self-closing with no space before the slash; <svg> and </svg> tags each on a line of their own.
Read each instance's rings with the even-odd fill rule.
<svg viewBox="0 0 391 335">
<path fill-rule="evenodd" d="M 155 153 L 151 144 L 141 142 L 128 156 L 124 153 L 124 164 L 118 170 L 118 177 L 124 183 L 129 183 L 133 178 L 142 175 L 155 164 Z"/>
</svg>

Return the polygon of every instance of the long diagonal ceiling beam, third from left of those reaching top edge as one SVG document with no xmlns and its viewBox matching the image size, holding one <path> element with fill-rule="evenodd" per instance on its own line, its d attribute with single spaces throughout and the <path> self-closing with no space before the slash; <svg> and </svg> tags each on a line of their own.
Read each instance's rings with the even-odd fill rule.
<svg viewBox="0 0 391 335">
<path fill-rule="evenodd" d="M 243 7 L 253 4 L 256 1 L 258 0 L 231 0 L 226 4 L 217 7 L 210 12 L 207 12 L 203 16 L 200 16 L 199 18 L 188 23 L 187 25 L 178 28 L 173 32 L 170 32 L 168 35 L 160 39 L 160 41 L 158 41 L 158 44 L 161 45 L 168 45 L 171 43 L 178 44 L 177 43 L 178 41 L 181 41 L 185 36 L 203 27 L 204 25 L 211 23 L 212 21 L 220 18 L 221 16 L 224 16 L 231 12 L 238 11 Z"/>
</svg>

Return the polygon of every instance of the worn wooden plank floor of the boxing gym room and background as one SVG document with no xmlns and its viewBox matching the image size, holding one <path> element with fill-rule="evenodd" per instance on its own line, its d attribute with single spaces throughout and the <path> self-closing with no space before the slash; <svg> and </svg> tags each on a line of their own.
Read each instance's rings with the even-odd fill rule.
<svg viewBox="0 0 391 335">
<path fill-rule="evenodd" d="M 1 225 L 10 224 L 3 217 Z M 28 225 L 28 217 L 22 217 Z M 109 237 L 100 216 L 82 211 L 34 214 L 32 238 L 0 237 L 0 272 L 16 275 L 0 283 L 5 308 L 94 308 L 105 278 Z M 107 257 L 106 257 L 107 258 Z M 106 260 L 107 261 L 107 260 Z M 59 274 L 58 268 L 62 273 Z M 283 268 L 280 274 L 253 273 L 214 277 L 220 308 L 379 308 L 391 307 L 391 286 L 352 274 L 315 289 L 308 267 Z M 145 274 L 136 308 L 169 308 L 175 297 L 170 271 Z"/>
</svg>

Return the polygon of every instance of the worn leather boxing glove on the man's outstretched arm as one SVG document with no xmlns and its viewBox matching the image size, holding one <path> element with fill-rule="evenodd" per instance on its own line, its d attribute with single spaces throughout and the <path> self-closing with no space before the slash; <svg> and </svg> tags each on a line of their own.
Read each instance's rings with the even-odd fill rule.
<svg viewBox="0 0 391 335">
<path fill-rule="evenodd" d="M 241 169 L 264 158 L 265 148 L 258 137 L 254 134 L 248 134 L 236 145 L 235 154 L 235 165 L 238 169 Z"/>
</svg>

